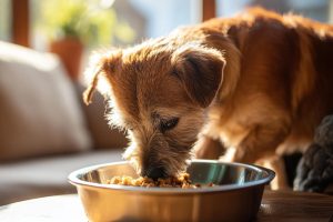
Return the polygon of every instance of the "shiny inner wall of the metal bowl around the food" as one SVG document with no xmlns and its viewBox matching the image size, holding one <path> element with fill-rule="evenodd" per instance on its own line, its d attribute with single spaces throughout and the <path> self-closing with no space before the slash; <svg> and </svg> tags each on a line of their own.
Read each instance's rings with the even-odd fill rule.
<svg viewBox="0 0 333 222">
<path fill-rule="evenodd" d="M 268 183 L 274 176 L 274 172 L 268 169 L 219 161 L 193 161 L 188 168 L 188 173 L 193 183 L 208 184 L 212 182 L 215 185 L 242 185 L 260 181 L 261 183 Z M 79 173 L 78 179 L 105 184 L 108 180 L 115 175 L 138 176 L 130 164 L 121 162 L 101 165 Z"/>
</svg>

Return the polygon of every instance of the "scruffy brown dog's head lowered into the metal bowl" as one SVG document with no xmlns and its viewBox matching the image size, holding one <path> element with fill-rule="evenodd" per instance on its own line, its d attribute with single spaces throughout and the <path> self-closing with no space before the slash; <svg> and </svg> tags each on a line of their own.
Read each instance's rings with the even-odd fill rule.
<svg viewBox="0 0 333 222">
<path fill-rule="evenodd" d="M 125 129 L 131 141 L 124 158 L 150 178 L 184 170 L 220 88 L 223 54 L 161 38 L 95 58 L 84 99 L 90 102 L 95 87 L 110 99 L 110 123 Z"/>
</svg>

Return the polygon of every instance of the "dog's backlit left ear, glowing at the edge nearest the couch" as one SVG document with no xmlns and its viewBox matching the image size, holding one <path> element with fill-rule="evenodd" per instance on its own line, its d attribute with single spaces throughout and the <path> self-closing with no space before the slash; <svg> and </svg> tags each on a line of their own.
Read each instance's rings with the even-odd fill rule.
<svg viewBox="0 0 333 222">
<path fill-rule="evenodd" d="M 94 90 L 104 94 L 103 87 L 98 87 L 100 79 L 112 75 L 120 64 L 121 51 L 111 51 L 110 53 L 93 53 L 90 58 L 88 69 L 84 71 L 84 78 L 88 82 L 88 88 L 83 92 L 83 101 L 85 104 L 91 103 Z"/>
</svg>

